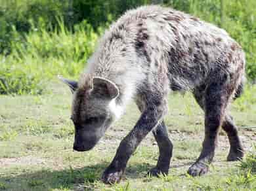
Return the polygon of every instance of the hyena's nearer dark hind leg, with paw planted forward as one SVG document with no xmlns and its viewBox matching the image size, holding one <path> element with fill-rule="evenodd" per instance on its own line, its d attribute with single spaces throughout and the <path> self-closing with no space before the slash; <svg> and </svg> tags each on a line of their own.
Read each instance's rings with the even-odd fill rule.
<svg viewBox="0 0 256 191">
<path fill-rule="evenodd" d="M 232 84 L 226 84 L 225 80 L 213 82 L 205 89 L 204 105 L 202 105 L 205 111 L 205 139 L 198 160 L 188 169 L 188 173 L 192 176 L 203 175 L 209 170 L 209 164 L 215 155 L 219 127 L 223 122 L 232 90 L 234 90 Z"/>
</svg>

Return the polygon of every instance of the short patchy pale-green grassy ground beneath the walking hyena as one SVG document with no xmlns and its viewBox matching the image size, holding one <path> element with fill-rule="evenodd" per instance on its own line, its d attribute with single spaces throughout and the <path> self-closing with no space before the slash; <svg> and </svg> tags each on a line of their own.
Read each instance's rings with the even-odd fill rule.
<svg viewBox="0 0 256 191">
<path fill-rule="evenodd" d="M 46 92 L 43 96 L 0 96 L 0 190 L 256 189 L 255 182 L 240 184 L 240 162 L 226 162 L 229 145 L 223 131 L 210 173 L 196 178 L 186 174 L 203 141 L 203 112 L 190 94 L 169 96 L 165 123 L 174 144 L 169 175 L 146 177 L 158 159 L 158 146 L 150 133 L 129 160 L 121 183 L 103 184 L 101 173 L 139 118 L 137 107 L 131 103 L 93 150 L 73 152 L 71 93 L 60 82 L 50 83 Z M 256 103 L 244 107 L 238 101 L 230 109 L 246 152 L 254 152 Z"/>
</svg>

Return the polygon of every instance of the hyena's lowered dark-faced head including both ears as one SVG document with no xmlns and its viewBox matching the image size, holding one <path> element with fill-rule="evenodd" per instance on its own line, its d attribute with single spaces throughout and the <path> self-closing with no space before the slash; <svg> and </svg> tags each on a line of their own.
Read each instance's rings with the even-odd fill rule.
<svg viewBox="0 0 256 191">
<path fill-rule="evenodd" d="M 73 93 L 71 119 L 75 126 L 74 150 L 85 151 L 95 147 L 116 118 L 116 97 L 119 90 L 105 78 L 88 78 L 83 85 L 60 79 Z"/>
</svg>

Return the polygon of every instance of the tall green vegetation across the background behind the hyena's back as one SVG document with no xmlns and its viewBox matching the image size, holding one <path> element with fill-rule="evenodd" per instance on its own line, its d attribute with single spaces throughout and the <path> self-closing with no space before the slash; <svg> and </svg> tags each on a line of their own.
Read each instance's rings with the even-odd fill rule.
<svg viewBox="0 0 256 191">
<path fill-rule="evenodd" d="M 77 77 L 104 27 L 127 9 L 160 2 L 221 26 L 242 44 L 256 78 L 256 1 L 0 1 L 0 94 L 41 94 L 57 73 Z M 3 66 L 3 67 L 2 67 Z"/>
</svg>

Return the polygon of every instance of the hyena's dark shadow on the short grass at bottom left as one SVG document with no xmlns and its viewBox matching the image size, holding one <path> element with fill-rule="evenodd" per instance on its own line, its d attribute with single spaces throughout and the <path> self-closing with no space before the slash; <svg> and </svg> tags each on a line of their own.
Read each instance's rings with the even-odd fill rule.
<svg viewBox="0 0 256 191">
<path fill-rule="evenodd" d="M 102 163 L 77 169 L 72 167 L 61 171 L 45 169 L 34 173 L 0 177 L 0 183 L 4 185 L 0 190 L 66 190 L 74 188 L 75 185 L 94 190 L 96 182 L 100 181 L 102 172 L 107 166 L 108 163 Z M 126 169 L 125 177 L 128 179 L 143 177 L 151 167 L 150 164 L 130 165 Z"/>
</svg>

